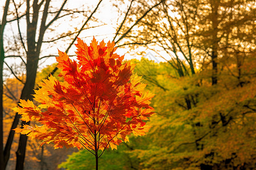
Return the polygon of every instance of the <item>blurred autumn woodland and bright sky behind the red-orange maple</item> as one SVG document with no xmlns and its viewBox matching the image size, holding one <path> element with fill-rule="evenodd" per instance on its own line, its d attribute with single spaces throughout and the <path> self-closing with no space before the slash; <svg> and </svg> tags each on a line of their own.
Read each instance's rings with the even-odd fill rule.
<svg viewBox="0 0 256 170">
<path fill-rule="evenodd" d="M 19 98 L 32 99 L 36 82 L 57 76 L 57 48 L 73 56 L 77 36 L 115 41 L 156 94 L 151 130 L 105 152 L 100 169 L 256 168 L 255 1 L 0 5 L 1 170 L 93 169 L 86 151 L 38 148 L 39 141 L 11 130 L 24 123 L 11 108 Z"/>
</svg>

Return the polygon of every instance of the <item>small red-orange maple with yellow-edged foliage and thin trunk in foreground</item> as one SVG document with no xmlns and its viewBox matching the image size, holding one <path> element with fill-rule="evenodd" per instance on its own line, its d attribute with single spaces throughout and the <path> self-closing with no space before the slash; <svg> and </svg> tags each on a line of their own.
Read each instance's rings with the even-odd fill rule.
<svg viewBox="0 0 256 170">
<path fill-rule="evenodd" d="M 109 146 L 129 141 L 127 135 L 144 135 L 149 126 L 146 120 L 154 113 L 150 100 L 154 96 L 144 91 L 146 84 L 133 74 L 135 65 L 114 53 L 114 42 L 98 45 L 93 38 L 90 46 L 77 39 L 77 61 L 59 51 L 57 67 L 59 82 L 52 75 L 39 83 L 34 100 L 20 100 L 15 112 L 22 121 L 35 120 L 40 125 L 23 125 L 16 132 L 55 143 L 55 148 L 85 148 L 98 158 Z M 105 46 L 106 45 L 106 46 Z M 101 150 L 101 154 L 98 151 Z"/>
</svg>

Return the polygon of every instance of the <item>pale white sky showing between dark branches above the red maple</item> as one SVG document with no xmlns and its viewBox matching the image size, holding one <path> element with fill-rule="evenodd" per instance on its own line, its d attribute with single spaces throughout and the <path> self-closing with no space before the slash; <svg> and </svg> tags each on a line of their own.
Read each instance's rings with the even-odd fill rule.
<svg viewBox="0 0 256 170">
<path fill-rule="evenodd" d="M 19 1 L 15 1 L 16 4 L 18 4 Z M 52 5 L 53 6 L 60 6 L 61 3 L 60 1 L 57 0 L 52 0 Z M 93 10 L 98 1 L 84 1 L 84 0 L 72 0 L 68 1 L 68 3 L 65 5 L 68 8 L 81 8 L 82 6 L 89 7 L 90 10 Z M 2 17 L 2 11 L 3 11 L 3 6 L 5 5 L 5 0 L 0 0 L 0 6 L 1 6 L 1 11 L 0 11 L 0 17 Z M 127 8 L 129 3 L 126 3 L 122 6 L 119 7 L 123 8 L 124 10 Z M 25 10 L 26 4 L 23 5 L 22 10 Z M 10 6 L 10 10 L 14 10 L 14 7 Z M 102 25 L 103 23 L 107 23 L 105 25 L 102 25 L 100 27 L 95 27 L 95 28 L 90 28 L 86 29 L 80 34 L 80 38 L 86 42 L 86 44 L 89 44 L 90 41 L 92 40 L 92 37 L 95 36 L 98 41 L 104 40 L 105 42 L 112 41 L 114 34 L 115 34 L 115 28 L 117 28 L 118 22 L 120 23 L 122 21 L 122 16 L 119 16 L 117 8 L 113 7 L 111 1 L 102 1 L 100 8 L 96 11 L 96 13 L 93 15 L 95 18 L 98 18 L 98 22 L 90 23 L 90 26 L 96 26 L 96 25 Z M 47 18 L 48 20 L 51 19 L 51 17 Z M 49 31 L 46 36 L 44 36 L 44 40 L 49 40 L 52 37 L 57 37 L 57 35 L 60 32 L 68 32 L 68 31 L 73 31 L 75 28 L 80 28 L 81 24 L 84 22 L 86 19 L 85 16 L 83 15 L 76 15 L 76 18 L 70 19 L 70 18 L 63 18 L 60 20 L 60 22 L 57 22 L 55 25 L 52 26 L 53 29 L 56 29 L 56 31 Z M 20 28 L 22 32 L 22 36 L 26 36 L 26 20 L 25 18 L 20 19 Z M 13 33 L 17 36 L 18 32 L 18 27 L 16 22 L 12 22 L 6 25 L 5 27 L 5 44 L 10 44 L 11 41 L 13 41 Z M 68 42 L 68 43 L 67 43 Z M 67 46 L 69 45 L 70 41 L 57 41 L 57 44 L 53 44 L 51 46 L 42 46 L 42 52 L 41 52 L 41 57 L 47 56 L 48 54 L 56 55 L 57 56 L 57 49 L 61 51 L 65 51 L 67 49 Z M 76 43 L 76 42 L 75 42 Z M 142 56 L 136 56 L 136 55 L 131 55 L 132 53 L 136 53 L 138 51 L 143 51 L 145 50 L 144 48 L 139 48 L 136 49 L 137 51 L 131 52 L 130 54 L 127 54 L 127 52 L 130 49 L 127 48 L 118 48 L 116 53 L 122 56 L 125 54 L 125 59 L 131 59 L 131 58 L 141 58 Z M 69 50 L 68 54 L 69 55 L 74 55 L 76 51 L 75 45 L 72 45 L 72 48 Z M 156 62 L 164 61 L 164 59 L 155 57 L 156 54 L 150 50 L 145 51 L 145 56 L 148 59 L 153 59 Z M 6 52 L 6 55 L 10 55 L 8 52 Z M 20 63 L 19 58 L 6 58 L 5 61 L 9 65 L 14 65 L 14 63 L 18 64 Z M 52 63 L 55 63 L 56 59 L 55 57 L 48 57 L 45 59 L 41 59 L 39 62 L 39 69 L 43 69 L 47 65 L 51 65 Z M 5 66 L 6 67 L 6 66 Z"/>
</svg>

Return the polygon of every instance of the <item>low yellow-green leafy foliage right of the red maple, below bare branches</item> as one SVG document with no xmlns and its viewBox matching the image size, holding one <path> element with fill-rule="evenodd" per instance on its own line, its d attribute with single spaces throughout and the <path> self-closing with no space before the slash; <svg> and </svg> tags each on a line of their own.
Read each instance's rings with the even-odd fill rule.
<svg viewBox="0 0 256 170">
<path fill-rule="evenodd" d="M 128 156 L 130 166 L 119 166 L 133 169 L 255 168 L 256 70 L 251 66 L 255 56 L 247 56 L 240 67 L 241 78 L 246 80 L 242 86 L 231 74 L 238 75 L 235 62 L 222 69 L 214 86 L 208 70 L 180 78 L 168 62 L 155 63 L 142 58 L 141 61 L 133 59 L 131 63 L 137 63 L 135 72 L 145 75 L 143 82 L 156 94 L 152 106 L 158 114 L 151 118 L 152 128 L 146 137 L 131 138 L 131 143 L 121 147 L 117 155 Z M 187 108 L 185 97 L 191 99 L 191 109 Z M 76 161 L 80 154 L 73 154 L 62 166 L 76 168 L 81 164 Z"/>
</svg>

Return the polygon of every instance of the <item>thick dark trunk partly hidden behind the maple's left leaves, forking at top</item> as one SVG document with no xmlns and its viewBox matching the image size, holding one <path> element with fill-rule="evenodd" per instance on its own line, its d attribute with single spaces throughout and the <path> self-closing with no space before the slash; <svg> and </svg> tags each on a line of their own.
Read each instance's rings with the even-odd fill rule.
<svg viewBox="0 0 256 170">
<path fill-rule="evenodd" d="M 49 0 L 47 1 L 49 2 Z M 46 2 L 46 5 L 48 4 Z M 35 79 L 36 79 L 36 71 L 38 70 L 38 61 L 39 61 L 39 53 L 40 53 L 40 45 L 42 42 L 35 41 L 36 38 L 36 28 L 38 24 L 39 19 L 39 8 L 40 5 L 38 5 L 38 0 L 34 0 L 33 5 L 33 17 L 32 22 L 30 22 L 30 1 L 27 0 L 27 64 L 26 64 L 26 83 L 22 90 L 22 96 L 20 99 L 28 99 L 32 100 L 32 94 L 34 93 L 34 87 L 35 87 Z M 46 6 L 48 10 L 48 6 Z M 44 12 L 45 14 L 45 12 Z M 44 16 L 43 14 L 43 16 Z M 42 23 L 44 20 L 46 20 L 46 16 L 42 18 Z M 42 24 L 41 23 L 41 24 Z M 43 36 L 45 29 L 42 31 L 42 27 L 45 27 L 45 25 L 40 25 L 40 33 L 39 33 L 39 39 Z M 39 49 L 37 48 L 39 47 Z M 23 124 L 29 125 L 30 122 L 22 122 Z M 27 135 L 20 134 L 19 138 L 19 147 L 16 151 L 16 170 L 22 170 L 24 165 L 24 159 L 26 154 L 26 144 L 27 144 Z"/>
</svg>

